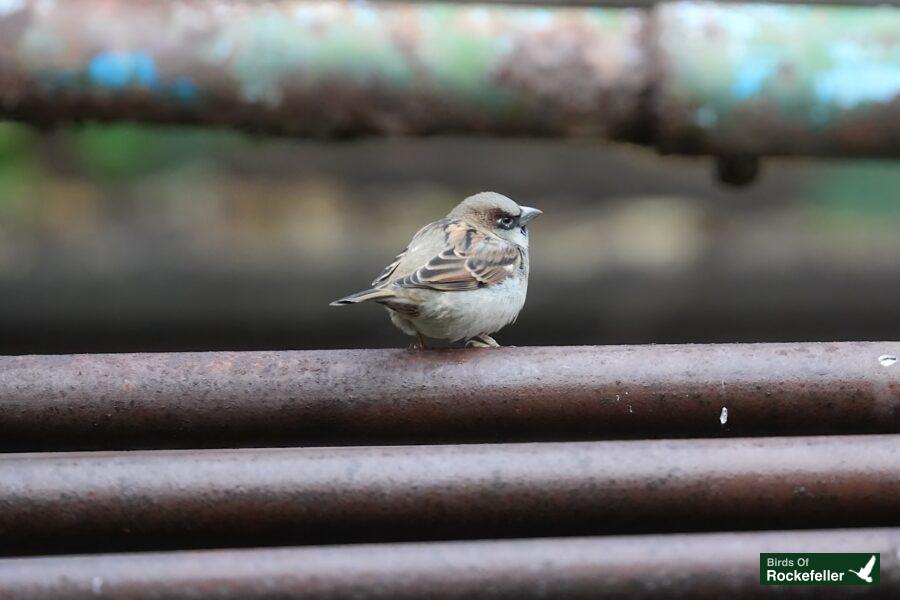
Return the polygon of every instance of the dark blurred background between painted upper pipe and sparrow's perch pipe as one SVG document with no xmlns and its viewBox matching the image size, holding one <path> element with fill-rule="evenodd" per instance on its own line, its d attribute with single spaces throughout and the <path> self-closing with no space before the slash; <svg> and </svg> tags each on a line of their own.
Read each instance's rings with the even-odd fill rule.
<svg viewBox="0 0 900 600">
<path fill-rule="evenodd" d="M 545 212 L 502 344 L 900 339 L 897 163 L 0 123 L 0 352 L 405 346 L 328 302 L 482 190 Z"/>
</svg>

